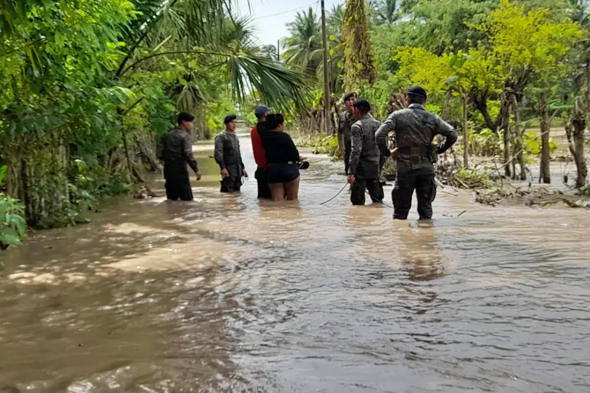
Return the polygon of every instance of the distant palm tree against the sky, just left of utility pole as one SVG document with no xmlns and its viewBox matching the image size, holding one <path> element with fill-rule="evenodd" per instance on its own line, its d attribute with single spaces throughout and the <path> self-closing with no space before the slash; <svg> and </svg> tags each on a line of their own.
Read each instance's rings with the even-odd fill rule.
<svg viewBox="0 0 590 393">
<path fill-rule="evenodd" d="M 316 74 L 322 62 L 321 25 L 312 7 L 307 12 L 297 12 L 295 21 L 287 24 L 290 37 L 284 39 L 286 51 L 283 58 L 309 74 Z"/>
</svg>

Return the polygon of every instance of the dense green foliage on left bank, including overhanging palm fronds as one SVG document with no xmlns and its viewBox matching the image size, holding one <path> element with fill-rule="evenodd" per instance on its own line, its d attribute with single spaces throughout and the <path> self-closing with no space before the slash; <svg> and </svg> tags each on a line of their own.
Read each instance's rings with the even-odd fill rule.
<svg viewBox="0 0 590 393">
<path fill-rule="evenodd" d="M 158 170 L 156 141 L 178 111 L 197 116 L 203 138 L 237 103 L 304 108 L 303 74 L 258 47 L 231 6 L 2 0 L 3 187 L 28 224 L 80 222 L 100 197 Z"/>
</svg>

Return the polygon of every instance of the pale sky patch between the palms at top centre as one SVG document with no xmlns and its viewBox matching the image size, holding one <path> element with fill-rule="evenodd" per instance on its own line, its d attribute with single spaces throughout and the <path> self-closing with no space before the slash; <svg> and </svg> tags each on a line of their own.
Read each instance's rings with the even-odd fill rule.
<svg viewBox="0 0 590 393">
<path fill-rule="evenodd" d="M 324 0 L 326 12 L 333 5 L 344 4 L 345 0 Z M 277 39 L 287 37 L 286 24 L 294 21 L 297 11 L 307 11 L 312 6 L 313 11 L 320 15 L 319 0 L 237 0 L 238 11 L 241 15 L 250 13 L 252 25 L 256 29 L 255 36 L 261 44 L 277 45 Z M 316 11 L 317 10 L 317 11 Z M 283 48 L 281 48 L 281 53 Z"/>
</svg>

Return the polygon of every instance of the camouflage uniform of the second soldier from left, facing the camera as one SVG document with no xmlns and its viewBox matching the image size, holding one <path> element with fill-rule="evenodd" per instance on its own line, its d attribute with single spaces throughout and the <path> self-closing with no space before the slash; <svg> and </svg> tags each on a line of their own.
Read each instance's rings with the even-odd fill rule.
<svg viewBox="0 0 590 393">
<path fill-rule="evenodd" d="M 221 181 L 221 192 L 240 191 L 244 163 L 240 153 L 240 141 L 235 133 L 223 130 L 215 137 L 215 161 L 221 170 L 227 169 L 230 174 Z"/>
</svg>

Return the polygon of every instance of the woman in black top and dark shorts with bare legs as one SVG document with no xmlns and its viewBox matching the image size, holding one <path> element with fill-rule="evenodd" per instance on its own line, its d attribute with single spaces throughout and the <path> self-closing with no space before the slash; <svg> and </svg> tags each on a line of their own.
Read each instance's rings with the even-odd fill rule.
<svg viewBox="0 0 590 393">
<path fill-rule="evenodd" d="M 296 200 L 299 194 L 299 151 L 285 132 L 282 114 L 268 115 L 266 127 L 260 139 L 268 163 L 267 181 L 273 200 Z"/>
</svg>

